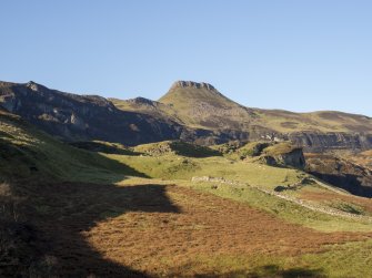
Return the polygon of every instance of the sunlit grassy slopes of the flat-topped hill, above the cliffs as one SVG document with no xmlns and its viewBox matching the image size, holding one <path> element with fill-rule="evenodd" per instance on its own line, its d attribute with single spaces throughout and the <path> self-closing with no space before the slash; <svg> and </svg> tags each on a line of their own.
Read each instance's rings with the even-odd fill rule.
<svg viewBox="0 0 372 278">
<path fill-rule="evenodd" d="M 161 116 L 170 116 L 192 127 L 217 128 L 219 123 L 227 126 L 263 126 L 278 132 L 372 132 L 372 120 L 363 115 L 336 111 L 313 113 L 293 113 L 281 110 L 245 109 L 227 99 L 217 91 L 194 87 L 172 86 L 159 100 L 157 109 L 147 105 L 134 105 L 125 101 L 113 100 L 113 103 L 125 111 L 138 111 Z M 209 104 L 200 106 L 202 103 Z M 232 124 L 233 123 L 233 124 Z M 221 126 L 220 126 L 221 127 Z"/>
</svg>

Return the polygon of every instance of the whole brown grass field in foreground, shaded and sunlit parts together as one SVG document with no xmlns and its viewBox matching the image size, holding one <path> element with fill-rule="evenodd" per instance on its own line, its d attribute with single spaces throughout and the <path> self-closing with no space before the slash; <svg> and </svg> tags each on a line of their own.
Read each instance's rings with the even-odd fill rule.
<svg viewBox="0 0 372 278">
<path fill-rule="evenodd" d="M 229 277 L 229 269 L 255 271 L 260 265 L 251 259 L 261 256 L 318 254 L 372 238 L 372 233 L 315 231 L 177 185 L 23 183 L 14 188 L 28 196 L 23 216 L 36 230 L 31 244 L 48 258 L 34 271 L 46 277 Z"/>
</svg>

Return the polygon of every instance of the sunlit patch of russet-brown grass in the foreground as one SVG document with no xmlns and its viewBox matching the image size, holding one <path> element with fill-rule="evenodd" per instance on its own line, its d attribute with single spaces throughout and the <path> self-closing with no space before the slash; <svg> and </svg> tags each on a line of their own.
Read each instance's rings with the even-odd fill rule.
<svg viewBox="0 0 372 278">
<path fill-rule="evenodd" d="M 244 204 L 178 186 L 167 186 L 165 192 L 180 213 L 130 212 L 83 235 L 104 258 L 119 265 L 151 275 L 191 276 L 213 270 L 199 265 L 198 257 L 295 256 L 372 236 L 319 233 Z"/>
</svg>

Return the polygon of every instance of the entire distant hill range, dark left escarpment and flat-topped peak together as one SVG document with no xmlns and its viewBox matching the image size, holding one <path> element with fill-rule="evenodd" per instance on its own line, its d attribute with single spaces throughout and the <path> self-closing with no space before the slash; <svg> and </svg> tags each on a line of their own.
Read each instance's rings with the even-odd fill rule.
<svg viewBox="0 0 372 278">
<path fill-rule="evenodd" d="M 372 119 L 343 112 L 293 113 L 240 105 L 208 83 L 178 81 L 159 101 L 104 99 L 50 90 L 34 82 L 0 83 L 0 103 L 66 141 L 127 145 L 182 140 L 292 141 L 306 151 L 372 148 Z"/>
</svg>

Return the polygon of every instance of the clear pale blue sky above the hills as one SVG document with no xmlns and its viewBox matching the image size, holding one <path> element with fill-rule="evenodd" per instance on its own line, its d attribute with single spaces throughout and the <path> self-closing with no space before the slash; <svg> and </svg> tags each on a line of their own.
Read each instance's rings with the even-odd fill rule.
<svg viewBox="0 0 372 278">
<path fill-rule="evenodd" d="M 2 0 L 0 80 L 157 100 L 204 81 L 248 106 L 372 116 L 370 0 Z"/>
</svg>

